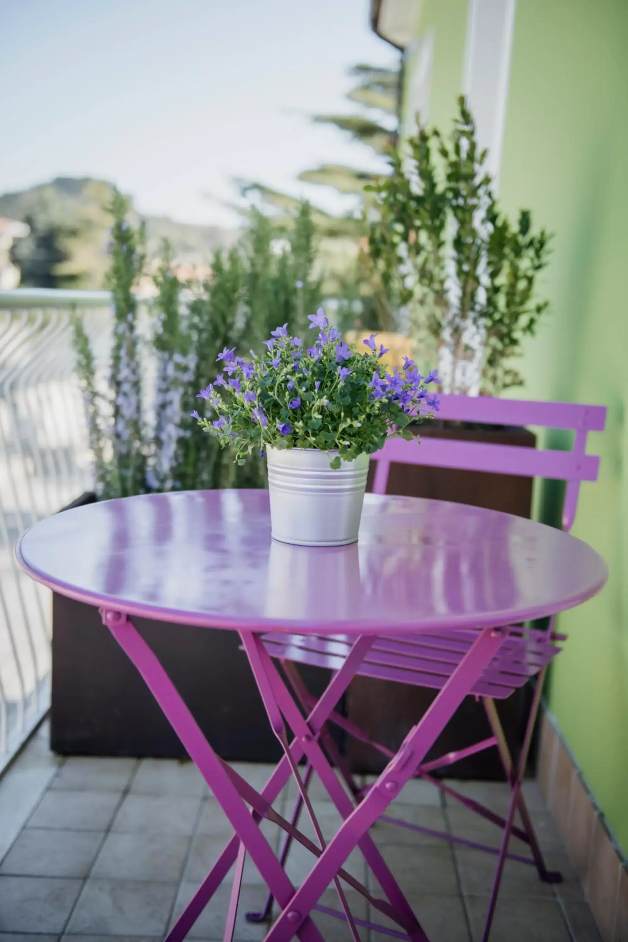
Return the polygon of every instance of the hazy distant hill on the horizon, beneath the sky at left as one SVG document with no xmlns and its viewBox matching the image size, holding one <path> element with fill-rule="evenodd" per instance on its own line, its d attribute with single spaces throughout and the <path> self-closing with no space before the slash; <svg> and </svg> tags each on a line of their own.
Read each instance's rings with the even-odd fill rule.
<svg viewBox="0 0 628 942">
<path fill-rule="evenodd" d="M 63 258 L 56 264 L 56 282 L 81 288 L 101 288 L 108 265 L 106 243 L 111 219 L 105 207 L 111 184 L 91 177 L 57 177 L 50 183 L 0 196 L 0 217 L 30 219 L 41 231 L 54 227 Z M 27 219 L 28 218 L 28 219 Z M 176 260 L 198 265 L 210 260 L 219 246 L 233 244 L 235 230 L 197 226 L 158 216 L 140 217 L 146 224 L 147 252 L 159 253 L 167 238 Z M 28 245 L 24 245 L 28 251 Z"/>
</svg>

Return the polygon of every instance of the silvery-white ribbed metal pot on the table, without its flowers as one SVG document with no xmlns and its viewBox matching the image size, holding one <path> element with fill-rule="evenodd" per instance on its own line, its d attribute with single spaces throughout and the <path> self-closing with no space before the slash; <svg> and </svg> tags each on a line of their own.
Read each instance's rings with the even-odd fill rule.
<svg viewBox="0 0 628 942">
<path fill-rule="evenodd" d="M 272 536 L 299 546 L 344 546 L 358 539 L 368 455 L 343 462 L 315 448 L 267 449 Z"/>
</svg>

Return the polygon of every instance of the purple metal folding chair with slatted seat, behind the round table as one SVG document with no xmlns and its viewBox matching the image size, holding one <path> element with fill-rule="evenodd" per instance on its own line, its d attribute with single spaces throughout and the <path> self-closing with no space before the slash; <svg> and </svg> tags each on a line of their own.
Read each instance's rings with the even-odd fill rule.
<svg viewBox="0 0 628 942">
<path fill-rule="evenodd" d="M 463 396 L 443 396 L 439 418 L 461 422 L 474 422 L 499 426 L 536 426 L 543 429 L 572 430 L 570 450 L 547 450 L 512 445 L 491 445 L 451 439 L 423 438 L 421 446 L 403 439 L 392 439 L 374 455 L 377 469 L 374 493 L 385 494 L 388 474 L 392 463 L 424 464 L 443 468 L 459 468 L 468 471 L 486 471 L 520 477 L 555 479 L 566 483 L 562 511 L 562 525 L 565 530 L 572 528 L 575 517 L 581 481 L 596 480 L 599 458 L 587 454 L 587 436 L 589 431 L 604 430 L 606 410 L 602 406 L 574 405 L 562 402 L 535 402 L 498 398 L 468 398 Z M 478 626 L 480 627 L 480 626 Z M 454 672 L 464 654 L 474 642 L 476 632 L 458 631 L 448 634 L 415 635 L 412 637 L 379 640 L 369 652 L 360 670 L 360 674 L 385 680 L 395 680 L 404 684 L 432 689 L 441 689 Z M 431 781 L 450 797 L 458 800 L 478 815 L 490 820 L 502 829 L 499 849 L 463 840 L 449 834 L 436 834 L 448 840 L 479 851 L 497 856 L 491 900 L 486 914 L 482 942 L 487 942 L 491 932 L 497 895 L 507 859 L 536 866 L 539 879 L 546 883 L 562 880 L 560 873 L 552 872 L 545 866 L 539 842 L 535 836 L 523 793 L 521 790 L 523 774 L 532 740 L 534 724 L 537 718 L 539 702 L 548 664 L 560 650 L 559 643 L 564 635 L 557 634 L 554 619 L 548 627 L 539 630 L 534 626 L 510 625 L 508 641 L 491 662 L 490 667 L 475 685 L 473 692 L 481 698 L 491 726 L 491 736 L 456 752 L 443 755 L 434 761 L 424 763 L 417 771 L 417 777 Z M 312 708 L 315 699 L 311 696 L 298 674 L 296 663 L 319 666 L 342 667 L 350 648 L 345 638 L 330 639 L 317 636 L 286 636 L 271 633 L 265 636 L 266 650 L 274 658 L 279 658 L 293 690 L 304 708 Z M 507 745 L 507 739 L 500 722 L 495 700 L 503 699 L 513 693 L 531 678 L 534 680 L 532 704 L 525 727 L 520 754 L 513 758 Z M 417 720 L 419 718 L 417 717 Z M 394 755 L 386 747 L 369 739 L 362 729 L 338 713 L 330 716 L 330 722 L 337 724 L 350 735 L 374 746 L 383 755 Z M 361 799 L 361 789 L 354 781 L 347 768 L 346 759 L 324 730 L 321 744 L 324 744 L 330 759 L 346 780 L 346 784 L 356 802 Z M 491 808 L 460 794 L 443 782 L 434 779 L 432 772 L 454 764 L 468 755 L 485 749 L 496 748 L 500 756 L 507 783 L 511 788 L 510 803 L 506 818 L 496 814 Z M 308 768 L 305 780 L 309 783 L 312 771 Z M 302 807 L 299 796 L 293 813 L 293 823 L 298 822 Z M 515 813 L 519 811 L 521 824 L 515 825 Z M 386 817 L 384 820 L 396 823 L 400 827 L 415 831 L 427 829 Z M 435 835 L 435 832 L 430 832 Z M 510 837 L 515 836 L 528 845 L 531 857 L 520 853 L 509 853 Z M 290 849 L 290 837 L 287 836 L 282 849 L 282 864 L 285 863 Z M 271 899 L 267 901 L 264 914 L 250 914 L 250 918 L 266 918 L 270 911 Z"/>
</svg>

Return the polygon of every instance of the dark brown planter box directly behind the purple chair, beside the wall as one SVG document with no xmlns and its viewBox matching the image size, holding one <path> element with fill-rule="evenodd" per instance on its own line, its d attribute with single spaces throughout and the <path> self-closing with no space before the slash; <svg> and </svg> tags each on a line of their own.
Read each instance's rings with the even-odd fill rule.
<svg viewBox="0 0 628 942">
<path fill-rule="evenodd" d="M 521 428 L 465 428 L 453 423 L 426 423 L 420 428 L 422 436 L 491 442 L 495 445 L 535 447 L 534 434 Z M 374 464 L 367 490 L 372 487 Z M 422 467 L 421 465 L 392 464 L 388 479 L 388 494 L 412 497 L 432 497 L 461 504 L 473 504 L 494 511 L 529 517 L 532 503 L 532 480 L 512 475 L 487 474 L 478 471 L 459 471 L 451 468 Z M 356 677 L 348 691 L 348 716 L 358 723 L 371 739 L 396 749 L 415 723 L 426 712 L 436 696 L 436 690 L 411 687 L 392 681 Z M 507 700 L 497 702 L 497 710 L 504 725 L 508 744 L 516 751 L 523 736 L 527 718 L 530 691 L 522 688 Z M 484 707 L 467 697 L 451 723 L 443 731 L 427 758 L 436 758 L 454 749 L 471 745 L 491 735 Z M 354 771 L 378 772 L 385 765 L 384 757 L 372 747 L 348 739 L 348 757 Z M 443 770 L 443 777 L 459 779 L 503 778 L 503 770 L 495 749 L 472 755 Z"/>
</svg>

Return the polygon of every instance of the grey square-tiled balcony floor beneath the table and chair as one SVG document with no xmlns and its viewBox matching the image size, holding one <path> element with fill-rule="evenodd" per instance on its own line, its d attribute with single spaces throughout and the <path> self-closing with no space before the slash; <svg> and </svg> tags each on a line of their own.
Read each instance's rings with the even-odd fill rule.
<svg viewBox="0 0 628 942">
<path fill-rule="evenodd" d="M 215 799 L 191 764 L 63 761 L 48 753 L 46 736 L 42 728 L 0 782 L 0 942 L 106 942 L 111 936 L 117 942 L 138 942 L 163 937 L 231 835 Z M 238 765 L 238 771 L 260 788 L 269 767 Z M 505 786 L 473 783 L 466 788 L 497 811 L 506 806 Z M 311 794 L 323 830 L 333 830 L 335 810 L 315 782 Z M 532 868 L 508 862 L 491 942 L 599 942 L 535 783 L 527 783 L 526 794 L 548 864 L 561 869 L 566 879 L 555 887 L 543 885 Z M 278 809 L 285 812 L 290 794 L 280 801 Z M 486 843 L 494 844 L 499 836 L 489 822 L 451 800 L 444 802 L 428 783 L 414 782 L 404 789 L 395 814 Z M 303 819 L 301 827 L 306 830 Z M 265 830 L 269 839 L 278 840 L 274 825 L 266 824 Z M 372 834 L 432 942 L 479 939 L 492 856 L 452 849 L 386 823 L 379 823 Z M 288 865 L 293 882 L 300 882 L 311 859 L 301 847 L 294 849 Z M 349 857 L 346 868 L 367 879 L 360 853 Z M 228 895 L 229 886 L 224 885 L 191 938 L 222 939 Z M 261 906 L 265 895 L 248 861 L 240 912 Z M 346 895 L 354 915 L 367 917 L 362 897 L 352 890 Z M 333 890 L 323 902 L 338 908 Z M 343 923 L 325 916 L 316 916 L 316 921 L 326 942 L 350 939 Z M 265 932 L 265 926 L 248 924 L 242 917 L 235 937 L 255 942 Z M 391 938 L 365 930 L 362 937 L 372 942 Z"/>
</svg>

